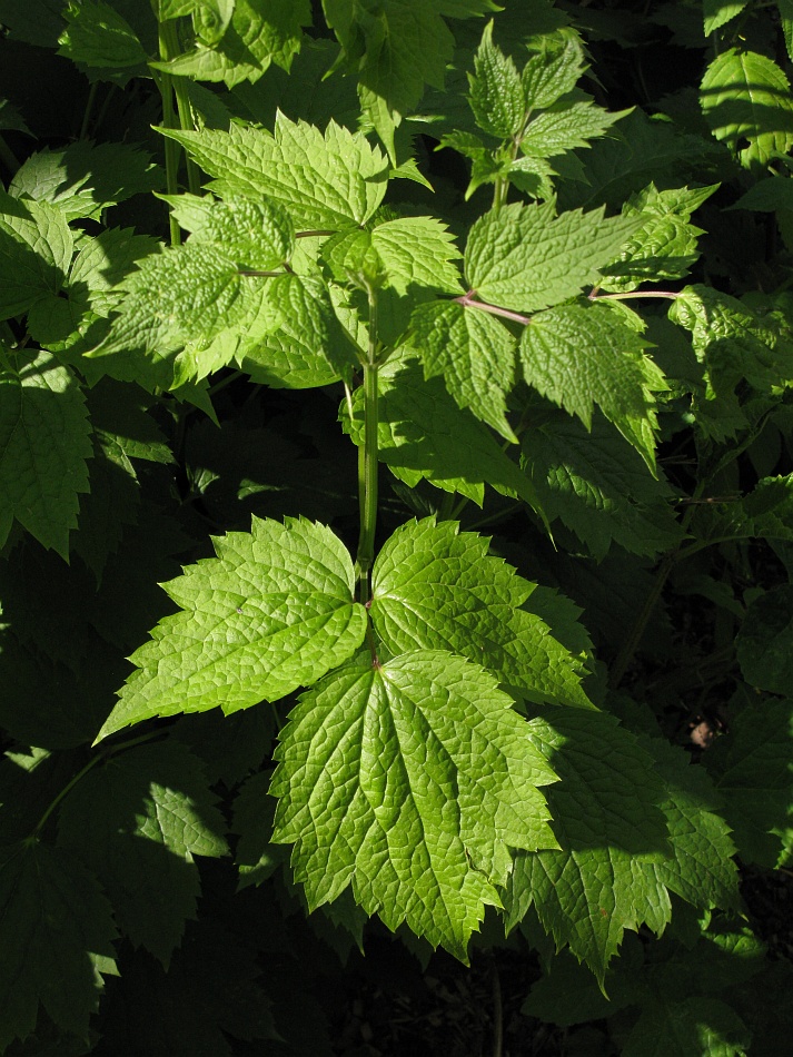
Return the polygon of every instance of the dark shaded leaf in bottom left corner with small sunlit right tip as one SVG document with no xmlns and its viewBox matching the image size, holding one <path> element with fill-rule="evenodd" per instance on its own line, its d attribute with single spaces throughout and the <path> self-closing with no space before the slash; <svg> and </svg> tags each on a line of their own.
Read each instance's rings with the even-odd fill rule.
<svg viewBox="0 0 793 1057">
<path fill-rule="evenodd" d="M 33 1030 L 39 1006 L 63 1031 L 87 1038 L 101 974 L 116 974 L 116 929 L 96 878 L 38 840 L 7 846 L 0 851 L 0 1048 Z"/>
</svg>

